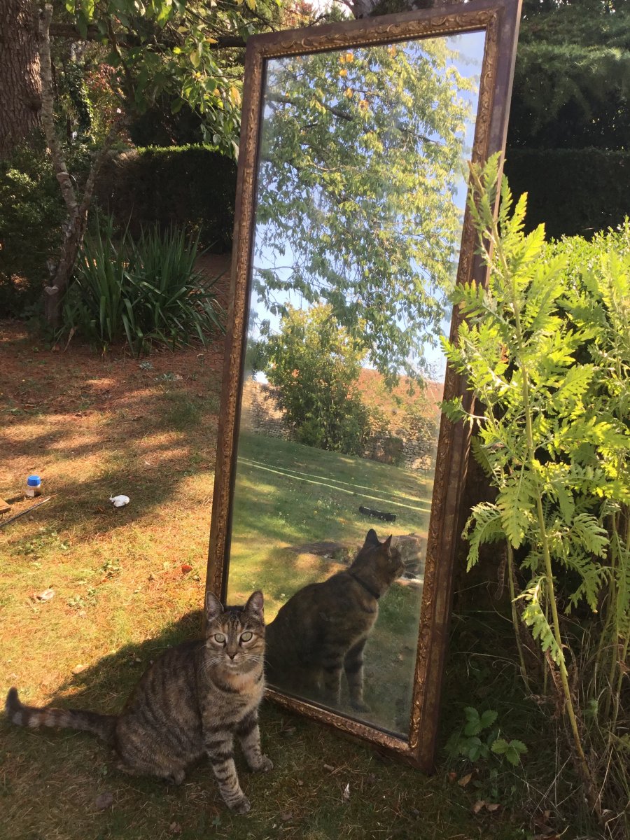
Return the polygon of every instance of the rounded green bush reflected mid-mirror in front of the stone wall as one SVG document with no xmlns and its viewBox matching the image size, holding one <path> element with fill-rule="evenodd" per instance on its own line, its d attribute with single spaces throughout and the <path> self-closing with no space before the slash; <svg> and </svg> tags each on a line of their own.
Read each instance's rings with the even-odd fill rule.
<svg viewBox="0 0 630 840">
<path fill-rule="evenodd" d="M 300 443 L 363 454 L 370 423 L 356 391 L 361 352 L 331 316 L 330 305 L 287 307 L 259 360 Z"/>
</svg>

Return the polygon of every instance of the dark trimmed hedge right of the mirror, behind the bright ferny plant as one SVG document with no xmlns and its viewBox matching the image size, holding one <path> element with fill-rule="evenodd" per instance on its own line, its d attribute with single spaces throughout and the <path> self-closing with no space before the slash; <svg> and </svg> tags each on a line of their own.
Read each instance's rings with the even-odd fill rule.
<svg viewBox="0 0 630 840">
<path fill-rule="evenodd" d="M 630 215 L 630 152 L 508 148 L 513 195 L 528 192 L 526 227 L 547 236 L 584 236 L 616 228 Z"/>
</svg>

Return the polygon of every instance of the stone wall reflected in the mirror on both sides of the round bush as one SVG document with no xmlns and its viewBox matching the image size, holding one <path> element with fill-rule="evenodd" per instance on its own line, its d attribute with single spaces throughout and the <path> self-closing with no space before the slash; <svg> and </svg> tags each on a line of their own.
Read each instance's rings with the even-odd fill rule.
<svg viewBox="0 0 630 840">
<path fill-rule="evenodd" d="M 285 421 L 285 412 L 276 406 L 276 388 L 249 379 L 243 389 L 241 408 L 242 427 L 267 438 L 294 440 Z M 397 464 L 407 470 L 432 470 L 437 441 L 430 449 L 421 440 L 400 435 L 375 434 L 365 448 L 365 458 L 381 464 Z"/>
</svg>

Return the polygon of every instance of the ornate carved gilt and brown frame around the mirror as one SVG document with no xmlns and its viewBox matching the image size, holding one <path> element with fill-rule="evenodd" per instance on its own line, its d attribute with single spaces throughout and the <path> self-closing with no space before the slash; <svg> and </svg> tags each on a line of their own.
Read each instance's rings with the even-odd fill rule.
<svg viewBox="0 0 630 840">
<path fill-rule="evenodd" d="M 288 55 L 306 55 L 335 48 L 383 45 L 402 40 L 471 31 L 485 32 L 475 122 L 473 160 L 505 150 L 507 115 L 512 90 L 521 0 L 471 0 L 438 9 L 368 18 L 313 29 L 264 34 L 248 41 L 245 62 L 244 107 L 239 150 L 239 176 L 234 225 L 234 254 L 228 312 L 228 333 L 218 426 L 218 456 L 213 496 L 207 590 L 223 601 L 227 593 L 230 532 L 236 449 L 244 377 L 244 349 L 249 311 L 250 275 L 255 225 L 257 155 L 265 61 Z M 485 280 L 485 266 L 475 256 L 475 234 L 465 212 L 457 282 Z M 457 334 L 459 313 L 454 312 L 451 338 Z M 465 383 L 447 368 L 444 399 L 470 400 Z M 344 715 L 268 690 L 281 706 L 297 711 L 340 731 L 365 739 L 376 748 L 430 771 L 438 722 L 444 654 L 449 626 L 454 557 L 462 522 L 461 496 L 465 483 L 469 435 L 461 424 L 442 417 L 428 528 L 422 612 L 408 738 L 351 720 Z"/>
</svg>

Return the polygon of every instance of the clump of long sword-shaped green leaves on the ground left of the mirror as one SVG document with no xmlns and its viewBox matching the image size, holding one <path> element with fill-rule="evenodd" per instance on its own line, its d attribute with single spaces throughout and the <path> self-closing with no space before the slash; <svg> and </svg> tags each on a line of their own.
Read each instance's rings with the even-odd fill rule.
<svg viewBox="0 0 630 840">
<path fill-rule="evenodd" d="M 61 335 L 101 345 L 126 341 L 134 355 L 172 349 L 223 330 L 214 282 L 195 270 L 198 239 L 155 226 L 132 239 L 107 218 L 86 234 L 66 295 Z"/>
</svg>

